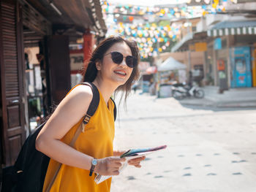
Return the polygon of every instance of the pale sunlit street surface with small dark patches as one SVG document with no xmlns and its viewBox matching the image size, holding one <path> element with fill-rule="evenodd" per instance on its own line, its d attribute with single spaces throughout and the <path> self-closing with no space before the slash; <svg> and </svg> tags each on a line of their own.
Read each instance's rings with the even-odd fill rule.
<svg viewBox="0 0 256 192">
<path fill-rule="evenodd" d="M 256 191 L 255 108 L 200 109 L 132 93 L 127 112 L 121 103 L 117 117 L 116 150 L 167 149 L 113 177 L 112 192 Z"/>
</svg>

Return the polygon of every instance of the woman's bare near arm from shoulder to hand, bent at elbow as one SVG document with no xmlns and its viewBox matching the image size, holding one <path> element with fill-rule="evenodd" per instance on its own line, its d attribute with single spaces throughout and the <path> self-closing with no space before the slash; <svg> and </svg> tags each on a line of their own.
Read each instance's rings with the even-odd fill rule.
<svg viewBox="0 0 256 192">
<path fill-rule="evenodd" d="M 75 166 L 89 170 L 93 157 L 75 150 L 60 141 L 62 137 L 78 121 L 86 115 L 92 99 L 92 91 L 89 86 L 80 85 L 74 88 L 56 108 L 48 122 L 39 132 L 36 140 L 37 150 L 45 153 L 50 158 L 61 164 Z M 118 174 L 121 166 L 121 158 L 102 158 L 99 160 L 100 167 L 97 172 L 101 174 Z"/>
</svg>

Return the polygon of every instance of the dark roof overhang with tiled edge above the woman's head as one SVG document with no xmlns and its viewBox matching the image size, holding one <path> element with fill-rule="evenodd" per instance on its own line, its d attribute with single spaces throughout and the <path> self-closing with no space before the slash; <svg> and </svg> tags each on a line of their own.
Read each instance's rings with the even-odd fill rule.
<svg viewBox="0 0 256 192">
<path fill-rule="evenodd" d="M 107 32 L 99 0 L 20 0 L 27 1 L 52 25 L 66 26 L 81 33 L 94 31 L 99 37 Z"/>
</svg>

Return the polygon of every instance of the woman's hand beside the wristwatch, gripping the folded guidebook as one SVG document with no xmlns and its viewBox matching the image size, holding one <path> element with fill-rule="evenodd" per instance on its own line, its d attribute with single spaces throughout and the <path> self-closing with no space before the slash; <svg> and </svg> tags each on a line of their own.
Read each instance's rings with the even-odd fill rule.
<svg viewBox="0 0 256 192">
<path fill-rule="evenodd" d="M 94 172 L 101 175 L 118 175 L 122 165 L 121 162 L 124 162 L 125 158 L 111 156 L 107 158 L 99 158 L 97 161 Z"/>
</svg>

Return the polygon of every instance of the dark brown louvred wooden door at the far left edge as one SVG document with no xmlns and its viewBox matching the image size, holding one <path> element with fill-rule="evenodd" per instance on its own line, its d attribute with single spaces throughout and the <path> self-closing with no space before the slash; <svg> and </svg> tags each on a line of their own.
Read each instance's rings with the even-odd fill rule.
<svg viewBox="0 0 256 192">
<path fill-rule="evenodd" d="M 0 0 L 1 146 L 6 166 L 15 163 L 26 138 L 21 10 L 17 0 Z"/>
</svg>

